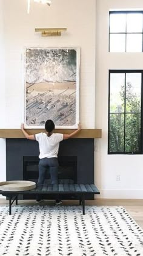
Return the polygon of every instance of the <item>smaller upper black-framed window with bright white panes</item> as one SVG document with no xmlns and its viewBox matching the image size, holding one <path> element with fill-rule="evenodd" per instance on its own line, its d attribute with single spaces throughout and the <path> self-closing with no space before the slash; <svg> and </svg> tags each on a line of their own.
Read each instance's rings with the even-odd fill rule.
<svg viewBox="0 0 143 256">
<path fill-rule="evenodd" d="M 109 12 L 109 52 L 142 52 L 143 11 Z"/>
</svg>

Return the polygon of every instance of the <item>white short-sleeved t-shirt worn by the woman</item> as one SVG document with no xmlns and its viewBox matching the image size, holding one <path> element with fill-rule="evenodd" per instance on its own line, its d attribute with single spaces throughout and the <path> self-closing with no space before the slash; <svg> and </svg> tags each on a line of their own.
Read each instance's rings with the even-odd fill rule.
<svg viewBox="0 0 143 256">
<path fill-rule="evenodd" d="M 39 142 L 39 158 L 58 157 L 59 143 L 63 137 L 62 133 L 52 133 L 50 137 L 44 132 L 35 134 L 35 138 Z"/>
</svg>

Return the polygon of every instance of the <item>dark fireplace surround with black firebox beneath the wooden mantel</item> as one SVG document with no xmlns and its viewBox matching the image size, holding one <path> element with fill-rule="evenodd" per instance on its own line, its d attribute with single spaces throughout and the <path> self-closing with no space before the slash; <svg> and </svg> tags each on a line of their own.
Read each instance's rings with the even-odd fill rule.
<svg viewBox="0 0 143 256">
<path fill-rule="evenodd" d="M 26 138 L 6 139 L 6 178 L 7 180 L 38 179 L 39 146 Z M 71 138 L 61 141 L 59 146 L 59 182 L 94 183 L 94 139 Z M 68 166 L 69 163 L 69 166 Z M 47 180 L 50 176 L 47 172 Z M 49 197 L 48 197 L 49 198 Z M 33 199 L 32 196 L 24 199 Z M 52 197 L 49 199 L 53 199 Z M 65 198 L 65 199 L 72 199 Z M 93 199 L 93 196 L 88 196 Z"/>
</svg>

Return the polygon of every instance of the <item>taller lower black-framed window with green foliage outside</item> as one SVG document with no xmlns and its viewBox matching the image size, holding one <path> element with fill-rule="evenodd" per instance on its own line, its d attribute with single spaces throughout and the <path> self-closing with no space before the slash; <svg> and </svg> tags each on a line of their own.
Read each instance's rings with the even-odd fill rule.
<svg viewBox="0 0 143 256">
<path fill-rule="evenodd" d="M 110 70 L 108 154 L 142 154 L 143 70 Z"/>
</svg>

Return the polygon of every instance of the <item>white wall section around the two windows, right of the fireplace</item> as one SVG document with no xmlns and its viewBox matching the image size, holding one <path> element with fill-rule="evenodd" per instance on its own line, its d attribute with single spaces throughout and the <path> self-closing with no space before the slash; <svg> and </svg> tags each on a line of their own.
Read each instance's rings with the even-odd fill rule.
<svg viewBox="0 0 143 256">
<path fill-rule="evenodd" d="M 143 198 L 143 155 L 107 154 L 108 69 L 143 69 L 143 53 L 108 52 L 108 12 L 131 8 L 143 9 L 142 0 L 96 1 L 95 124 L 102 128 L 102 140 L 96 140 L 95 180 L 102 198 Z"/>
</svg>

